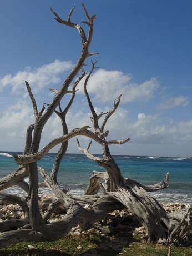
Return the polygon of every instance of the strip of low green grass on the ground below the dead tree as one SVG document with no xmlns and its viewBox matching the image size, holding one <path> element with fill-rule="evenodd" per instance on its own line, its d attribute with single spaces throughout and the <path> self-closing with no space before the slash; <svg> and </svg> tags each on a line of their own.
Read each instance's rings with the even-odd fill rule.
<svg viewBox="0 0 192 256">
<path fill-rule="evenodd" d="M 28 245 L 36 249 L 30 250 Z M 81 245 L 82 249 L 77 249 Z M 10 245 L 0 250 L 0 255 L 11 256 L 42 256 L 42 255 L 124 255 L 124 256 L 165 256 L 169 246 L 129 241 L 126 237 L 101 237 L 98 234 L 84 233 L 80 235 L 67 235 L 55 242 L 22 242 Z M 171 245 L 171 256 L 191 256 L 192 247 L 174 247 Z"/>
</svg>

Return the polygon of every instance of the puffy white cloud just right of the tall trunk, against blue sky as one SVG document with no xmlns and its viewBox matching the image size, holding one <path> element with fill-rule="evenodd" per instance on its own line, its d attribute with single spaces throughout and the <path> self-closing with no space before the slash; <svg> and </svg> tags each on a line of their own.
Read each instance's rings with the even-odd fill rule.
<svg viewBox="0 0 192 256">
<path fill-rule="evenodd" d="M 83 83 L 83 82 L 82 82 Z M 89 93 L 100 102 L 113 101 L 119 94 L 123 94 L 122 102 L 148 101 L 154 96 L 159 83 L 151 78 L 142 84 L 132 83 L 132 76 L 121 71 L 107 71 L 99 69 L 90 77 Z"/>
</svg>

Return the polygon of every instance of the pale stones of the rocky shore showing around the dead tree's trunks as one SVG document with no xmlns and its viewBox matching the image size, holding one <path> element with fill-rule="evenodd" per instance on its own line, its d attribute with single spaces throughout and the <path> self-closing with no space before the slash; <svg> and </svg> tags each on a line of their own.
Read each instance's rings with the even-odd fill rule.
<svg viewBox="0 0 192 256">
<path fill-rule="evenodd" d="M 46 198 L 50 197 L 42 197 L 40 204 L 42 200 Z M 186 203 L 177 202 L 160 202 L 160 204 L 169 213 L 174 213 L 187 205 Z M 53 213 L 52 217 L 49 219 L 49 222 L 58 222 L 59 220 L 62 220 L 63 217 L 64 212 Z M 4 220 L 23 218 L 24 214 L 19 205 L 3 204 L 0 202 L 0 222 Z M 122 235 L 132 238 L 137 238 L 139 236 L 140 239 L 145 239 L 146 237 L 145 228 L 138 223 L 138 220 L 128 210 L 115 210 L 114 212 L 108 214 L 104 220 L 100 220 L 99 222 L 95 223 L 91 229 L 82 231 L 80 230 L 80 227 L 77 226 L 72 228 L 70 234 L 79 235 L 82 233 L 93 232 L 104 237 L 118 237 Z"/>
</svg>

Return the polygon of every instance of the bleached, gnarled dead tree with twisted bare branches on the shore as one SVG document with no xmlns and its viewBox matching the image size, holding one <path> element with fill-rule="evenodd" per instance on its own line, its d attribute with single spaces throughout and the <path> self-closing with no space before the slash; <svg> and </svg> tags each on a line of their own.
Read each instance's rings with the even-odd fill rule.
<svg viewBox="0 0 192 256">
<path fill-rule="evenodd" d="M 191 229 L 191 208 L 185 207 L 178 213 L 170 214 L 164 210 L 156 199 L 151 197 L 148 192 L 154 192 L 159 189 L 168 187 L 169 174 L 165 175 L 162 182 L 155 185 L 142 185 L 129 178 L 122 177 L 120 169 L 115 163 L 110 154 L 110 144 L 123 144 L 129 141 L 125 140 L 107 140 L 109 131 L 105 130 L 105 125 L 110 116 L 116 111 L 120 103 L 121 95 L 114 101 L 113 108 L 107 113 L 97 114 L 94 110 L 92 101 L 89 97 L 87 86 L 92 73 L 94 72 L 96 62 L 92 62 L 90 72 L 87 74 L 84 82 L 84 94 L 87 98 L 88 106 L 92 117 L 90 117 L 93 130 L 89 130 L 89 126 L 75 128 L 68 131 L 65 117 L 76 93 L 76 87 L 85 76 L 83 65 L 89 56 L 97 53 L 89 53 L 89 46 L 92 41 L 93 26 L 95 15 L 89 16 L 85 6 L 82 4 L 86 21 L 83 21 L 88 26 L 88 34 L 85 33 L 82 26 L 71 21 L 74 8 L 70 10 L 67 20 L 61 19 L 56 12 L 51 9 L 55 16 L 55 20 L 65 26 L 77 29 L 82 39 L 82 52 L 72 71 L 64 80 L 59 91 L 51 89 L 55 92 L 55 96 L 51 103 L 44 103 L 42 109 L 38 111 L 36 100 L 33 97 L 31 87 L 26 81 L 26 87 L 31 98 L 34 111 L 34 124 L 31 124 L 27 129 L 26 146 L 23 155 L 14 155 L 14 159 L 18 163 L 18 169 L 0 180 L 0 190 L 4 190 L 12 185 L 19 185 L 24 191 L 28 193 L 28 202 L 22 197 L 0 194 L 0 199 L 8 203 L 17 203 L 21 205 L 25 218 L 20 220 L 9 220 L 8 222 L 0 223 L 0 247 L 9 244 L 14 244 L 21 241 L 40 242 L 45 240 L 57 240 L 67 235 L 72 227 L 79 224 L 82 229 L 90 227 L 91 224 L 97 220 L 102 219 L 107 213 L 115 209 L 127 208 L 135 217 L 142 223 L 146 229 L 149 242 L 170 243 L 178 242 L 184 243 L 188 237 Z M 74 82 L 75 77 L 79 72 L 82 72 L 77 81 Z M 69 86 L 72 89 L 69 89 Z M 60 102 L 65 94 L 72 94 L 67 106 L 62 110 Z M 63 135 L 50 141 L 44 148 L 39 150 L 39 143 L 41 142 L 41 134 L 44 125 L 52 114 L 56 113 L 61 121 L 63 128 Z M 105 116 L 103 122 L 100 118 Z M 57 182 L 57 174 L 59 165 L 63 155 L 67 151 L 68 140 L 77 137 L 89 137 L 102 147 L 103 157 L 95 157 L 89 152 L 91 142 L 87 148 L 80 147 L 77 139 L 78 148 L 87 157 L 105 168 L 106 172 L 94 171 L 90 178 L 90 183 L 84 195 L 73 196 L 67 194 L 67 190 L 62 190 Z M 41 159 L 50 149 L 60 144 L 60 149 L 55 157 L 52 172 L 50 175 L 46 173 L 41 167 L 37 166 L 37 160 Z M 39 184 L 38 172 L 44 178 L 44 182 Z M 29 177 L 29 185 L 24 182 L 24 178 Z M 104 185 L 100 182 L 104 180 Z M 50 202 L 47 212 L 42 215 L 38 204 L 38 187 L 39 185 L 48 186 L 55 197 Z M 99 189 L 102 190 L 103 195 L 98 195 Z M 62 205 L 67 212 L 60 222 L 47 223 L 54 209 Z"/>
</svg>

